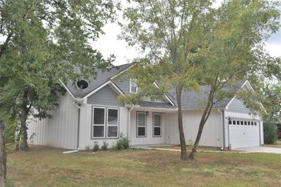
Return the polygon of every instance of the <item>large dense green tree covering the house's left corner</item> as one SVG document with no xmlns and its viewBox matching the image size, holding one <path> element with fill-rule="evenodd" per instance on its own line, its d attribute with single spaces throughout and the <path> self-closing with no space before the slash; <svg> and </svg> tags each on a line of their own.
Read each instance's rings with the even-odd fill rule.
<svg viewBox="0 0 281 187">
<path fill-rule="evenodd" d="M 112 0 L 0 1 L 0 118 L 20 123 L 20 150 L 28 148 L 27 117 L 56 107 L 59 79 L 76 82 L 112 66 L 114 56 L 104 59 L 89 41 L 115 11 Z"/>
</svg>

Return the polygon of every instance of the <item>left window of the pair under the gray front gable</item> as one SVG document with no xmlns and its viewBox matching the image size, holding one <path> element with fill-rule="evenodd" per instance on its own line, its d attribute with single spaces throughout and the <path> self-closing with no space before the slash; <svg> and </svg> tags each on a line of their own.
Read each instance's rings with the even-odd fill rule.
<svg viewBox="0 0 281 187">
<path fill-rule="evenodd" d="M 105 108 L 93 108 L 93 137 L 105 137 Z"/>
</svg>

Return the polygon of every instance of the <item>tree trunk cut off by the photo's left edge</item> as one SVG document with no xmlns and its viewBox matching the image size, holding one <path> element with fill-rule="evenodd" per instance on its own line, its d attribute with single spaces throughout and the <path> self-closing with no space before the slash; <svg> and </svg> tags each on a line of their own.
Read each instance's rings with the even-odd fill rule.
<svg viewBox="0 0 281 187">
<path fill-rule="evenodd" d="M 5 124 L 0 119 L 0 186 L 5 186 L 6 179 L 6 146 L 5 146 Z"/>
</svg>

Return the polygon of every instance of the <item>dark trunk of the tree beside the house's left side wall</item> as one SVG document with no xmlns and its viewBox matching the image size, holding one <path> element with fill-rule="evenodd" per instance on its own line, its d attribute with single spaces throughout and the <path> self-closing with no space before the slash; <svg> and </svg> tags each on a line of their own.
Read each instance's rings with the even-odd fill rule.
<svg viewBox="0 0 281 187">
<path fill-rule="evenodd" d="M 20 131 L 21 131 L 20 150 L 28 150 L 26 124 L 27 124 L 27 116 L 28 116 L 29 108 L 27 108 L 27 99 L 28 99 L 28 91 L 23 91 L 22 113 L 20 115 Z"/>
</svg>

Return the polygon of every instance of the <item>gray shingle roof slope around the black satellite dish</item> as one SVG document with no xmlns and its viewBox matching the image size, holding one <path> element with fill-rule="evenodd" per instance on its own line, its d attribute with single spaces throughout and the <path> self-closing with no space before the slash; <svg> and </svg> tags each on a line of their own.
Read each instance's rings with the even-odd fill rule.
<svg viewBox="0 0 281 187">
<path fill-rule="evenodd" d="M 123 70 L 130 67 L 131 65 L 132 65 L 132 63 L 119 65 L 119 66 L 113 67 L 109 71 L 105 71 L 105 72 L 102 72 L 102 70 L 97 70 L 96 79 L 93 79 L 93 77 L 90 77 L 89 82 L 88 82 L 89 83 L 88 88 L 80 90 L 79 88 L 77 88 L 76 84 L 73 84 L 73 82 L 69 81 L 66 84 L 67 89 L 70 90 L 70 92 L 72 93 L 72 95 L 75 98 L 83 98 L 87 94 L 91 93 L 91 91 L 94 91 L 100 85 L 102 85 L 105 82 L 107 82 L 108 80 L 110 80 L 110 78 L 112 78 L 114 75 L 117 75 L 117 73 L 122 72 Z"/>
</svg>

